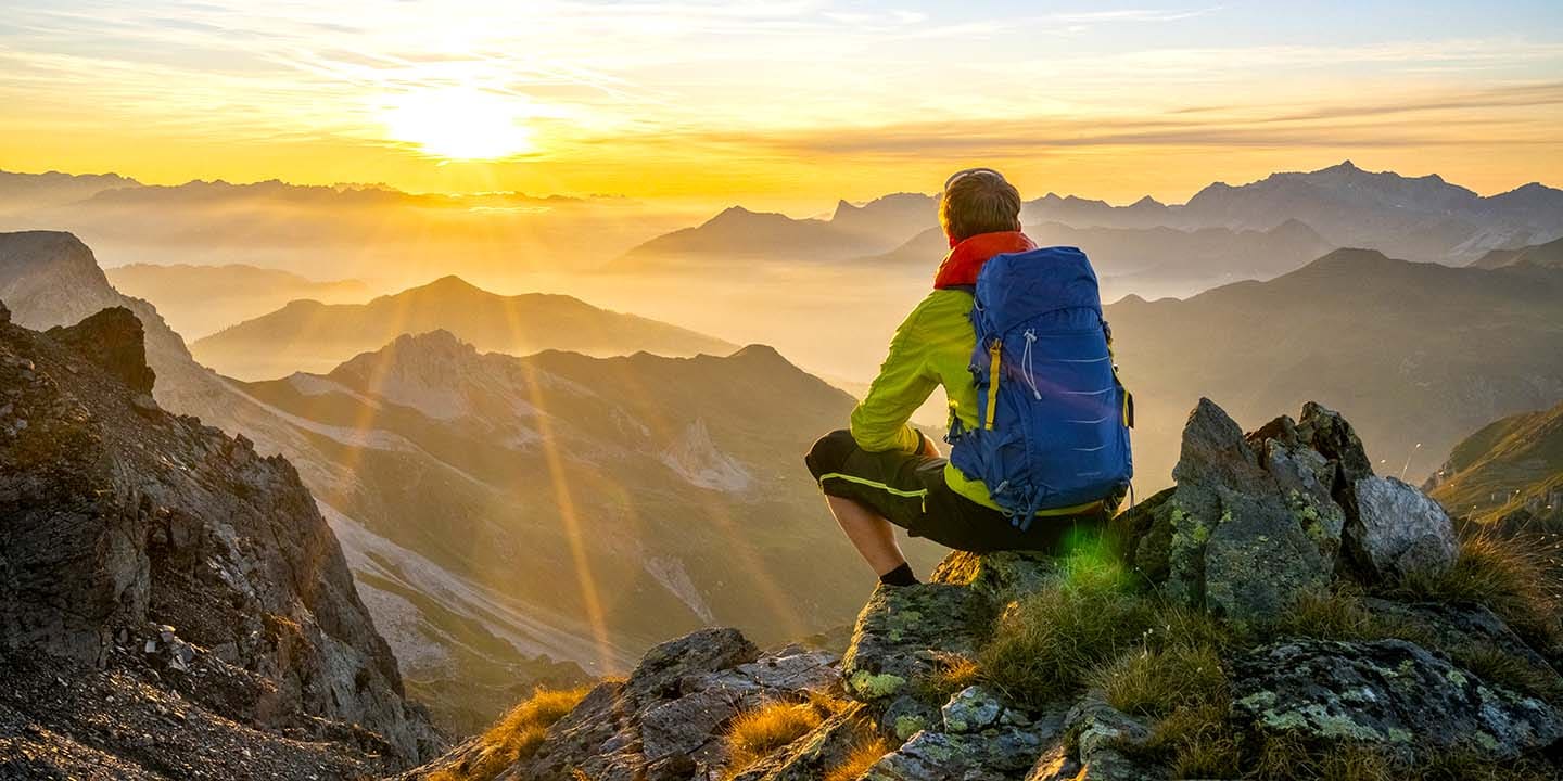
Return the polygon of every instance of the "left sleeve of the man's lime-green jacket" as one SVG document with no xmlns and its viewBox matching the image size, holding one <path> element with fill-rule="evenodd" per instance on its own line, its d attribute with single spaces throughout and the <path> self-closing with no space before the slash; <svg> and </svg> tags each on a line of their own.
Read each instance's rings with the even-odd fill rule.
<svg viewBox="0 0 1563 781">
<path fill-rule="evenodd" d="M 913 309 L 896 337 L 867 397 L 852 411 L 852 439 L 871 453 L 916 453 L 922 434 L 908 425 L 913 412 L 939 387 L 928 369 L 928 341 L 921 333 L 922 306 Z"/>
</svg>

